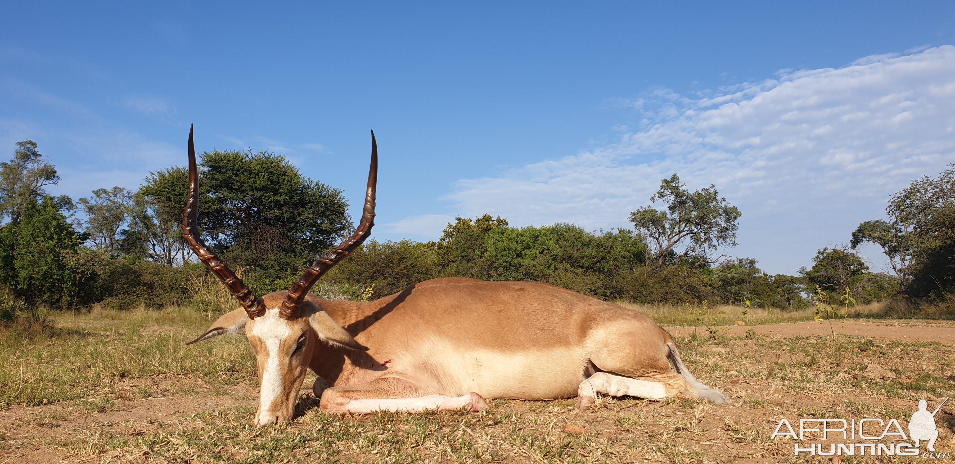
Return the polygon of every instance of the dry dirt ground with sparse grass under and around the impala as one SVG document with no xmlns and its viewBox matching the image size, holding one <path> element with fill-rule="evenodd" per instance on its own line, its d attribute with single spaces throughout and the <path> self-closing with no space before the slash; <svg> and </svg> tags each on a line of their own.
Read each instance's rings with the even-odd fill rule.
<svg viewBox="0 0 955 464">
<path fill-rule="evenodd" d="M 748 329 L 754 333 L 747 336 Z M 317 411 L 317 401 L 305 393 L 298 419 L 256 429 L 247 424 L 258 397 L 256 388 L 240 385 L 223 390 L 203 381 L 163 375 L 148 379 L 157 393 L 153 397 L 138 397 L 134 392 L 142 383 L 139 379 L 117 388 L 115 402 L 98 409 L 65 403 L 0 411 L 0 464 L 842 462 L 795 457 L 793 441 L 770 440 L 769 435 L 781 417 L 796 423 L 800 417 L 897 417 L 904 427 L 917 399 L 928 399 L 931 409 L 941 398 L 930 391 L 951 392 L 940 386 L 955 390 L 955 372 L 947 364 L 955 348 L 955 325 L 947 322 L 722 327 L 719 336 L 703 341 L 710 336 L 706 327 L 669 330 L 681 345 L 690 345 L 685 351 L 690 369 L 727 392 L 731 405 L 679 398 L 662 402 L 603 398 L 593 411 L 584 413 L 573 408 L 572 400 L 563 400 L 495 401 L 494 410 L 487 414 L 327 416 Z M 837 353 L 835 367 L 824 368 L 828 361 L 817 360 L 812 347 L 820 346 L 834 331 L 848 340 L 839 346 L 847 354 Z M 696 334 L 692 341 L 691 333 Z M 810 343 L 806 340 L 817 345 L 805 345 Z M 903 366 L 913 355 L 919 361 Z M 892 357 L 899 360 L 888 359 Z M 774 373 L 775 369 L 785 373 Z M 183 382 L 195 383 L 185 389 L 190 393 L 163 394 L 182 391 Z M 904 390 L 914 382 L 925 382 L 926 387 Z M 955 450 L 955 404 L 947 403 L 936 422 L 940 430 L 936 448 Z M 413 439 L 415 433 L 420 436 Z M 298 444 L 283 448 L 281 439 L 287 436 L 295 437 Z M 247 444 L 266 438 L 278 440 L 269 445 L 274 450 Z M 847 457 L 845 462 L 898 459 Z"/>
</svg>

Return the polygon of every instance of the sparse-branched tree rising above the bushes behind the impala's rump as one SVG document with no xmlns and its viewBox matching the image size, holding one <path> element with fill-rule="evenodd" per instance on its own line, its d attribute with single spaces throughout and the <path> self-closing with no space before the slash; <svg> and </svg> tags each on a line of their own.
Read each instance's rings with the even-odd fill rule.
<svg viewBox="0 0 955 464">
<path fill-rule="evenodd" d="M 714 185 L 690 193 L 676 174 L 663 179 L 650 201 L 663 201 L 667 208 L 644 206 L 630 213 L 630 221 L 651 241 L 648 243 L 658 264 L 669 258 L 692 258 L 699 264 L 715 260 L 711 254 L 721 246 L 736 245 L 736 230 L 742 213 L 726 199 L 719 198 Z M 683 251 L 677 247 L 686 243 Z"/>
</svg>

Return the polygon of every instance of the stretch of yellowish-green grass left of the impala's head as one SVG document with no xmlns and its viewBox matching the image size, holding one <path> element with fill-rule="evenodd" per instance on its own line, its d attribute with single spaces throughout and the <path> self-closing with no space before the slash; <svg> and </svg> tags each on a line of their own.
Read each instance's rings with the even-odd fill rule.
<svg viewBox="0 0 955 464">
<path fill-rule="evenodd" d="M 254 382 L 254 357 L 244 337 L 185 346 L 217 316 L 187 307 L 93 308 L 54 313 L 54 328 L 40 334 L 0 327 L 0 406 L 101 397 L 162 374 Z"/>
</svg>

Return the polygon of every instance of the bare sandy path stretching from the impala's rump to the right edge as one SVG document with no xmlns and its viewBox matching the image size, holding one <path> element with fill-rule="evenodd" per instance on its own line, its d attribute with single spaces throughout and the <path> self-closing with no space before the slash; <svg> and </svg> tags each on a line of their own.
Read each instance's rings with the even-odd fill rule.
<svg viewBox="0 0 955 464">
<path fill-rule="evenodd" d="M 947 322 L 869 322 L 869 321 L 838 321 L 829 322 L 801 322 L 786 324 L 771 324 L 768 326 L 730 326 L 714 327 L 729 330 L 732 335 L 742 336 L 747 329 L 758 334 L 766 335 L 816 335 L 825 336 L 835 330 L 837 334 L 858 335 L 860 337 L 882 338 L 904 342 L 939 342 L 955 345 L 955 326 Z M 707 327 L 665 327 L 673 336 L 686 337 L 690 333 L 707 335 Z"/>
</svg>

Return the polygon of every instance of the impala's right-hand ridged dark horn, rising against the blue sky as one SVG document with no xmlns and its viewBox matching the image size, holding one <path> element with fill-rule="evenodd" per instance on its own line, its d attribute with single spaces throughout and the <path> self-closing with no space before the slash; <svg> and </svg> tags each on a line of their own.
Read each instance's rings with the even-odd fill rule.
<svg viewBox="0 0 955 464">
<path fill-rule="evenodd" d="M 371 235 L 371 227 L 374 226 L 374 188 L 377 183 L 378 144 L 374 141 L 374 131 L 371 131 L 371 168 L 368 171 L 368 190 L 365 193 L 365 210 L 361 215 L 361 222 L 348 240 L 311 264 L 302 274 L 302 277 L 299 277 L 295 284 L 288 289 L 286 299 L 279 307 L 279 317 L 289 321 L 298 319 L 299 307 L 305 300 L 305 296 L 308 295 L 311 285 L 315 285 L 323 274 L 328 272 L 335 264 L 344 260 L 346 256 L 349 256 L 349 253 Z"/>
</svg>

